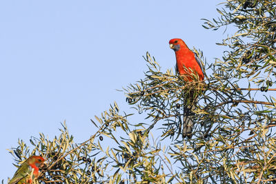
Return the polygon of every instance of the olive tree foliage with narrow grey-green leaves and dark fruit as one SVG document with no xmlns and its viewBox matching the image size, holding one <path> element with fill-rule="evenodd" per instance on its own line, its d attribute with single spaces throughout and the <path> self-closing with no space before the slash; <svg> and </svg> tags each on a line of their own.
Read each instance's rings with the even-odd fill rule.
<svg viewBox="0 0 276 184">
<path fill-rule="evenodd" d="M 114 103 L 91 120 L 97 132 L 87 141 L 74 143 L 64 123 L 53 140 L 43 134 L 30 139 L 33 149 L 19 141 L 10 150 L 16 163 L 32 154 L 46 157 L 39 183 L 275 182 L 276 1 L 228 0 L 217 12 L 219 18 L 204 19 L 204 28 L 237 32 L 217 43 L 228 47 L 222 59 L 205 61 L 204 83 L 161 72 L 147 53 L 144 79 L 124 89 L 144 122 L 133 121 L 135 114 Z M 193 136 L 183 139 L 184 103 L 194 103 L 186 97 L 190 90 L 199 102 Z M 161 139 L 151 141 L 157 127 Z"/>
</svg>

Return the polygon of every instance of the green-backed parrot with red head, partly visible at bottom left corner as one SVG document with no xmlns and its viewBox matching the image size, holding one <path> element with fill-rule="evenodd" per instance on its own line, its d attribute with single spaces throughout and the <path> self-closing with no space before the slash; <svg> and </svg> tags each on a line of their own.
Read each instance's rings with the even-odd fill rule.
<svg viewBox="0 0 276 184">
<path fill-rule="evenodd" d="M 29 159 L 19 166 L 17 172 L 15 172 L 8 184 L 32 183 L 32 179 L 39 176 L 39 166 L 42 165 L 44 161 L 45 159 L 43 159 L 42 156 L 30 156 Z M 32 178 L 30 178 L 31 174 L 33 176 Z"/>
</svg>

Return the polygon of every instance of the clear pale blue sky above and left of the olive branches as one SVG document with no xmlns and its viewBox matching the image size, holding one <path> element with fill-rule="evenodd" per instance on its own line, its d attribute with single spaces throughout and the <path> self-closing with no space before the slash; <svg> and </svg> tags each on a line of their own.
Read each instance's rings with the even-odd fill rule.
<svg viewBox="0 0 276 184">
<path fill-rule="evenodd" d="M 75 141 L 95 130 L 94 115 L 117 101 L 116 89 L 144 77 L 146 51 L 173 68 L 168 41 L 178 37 L 204 51 L 208 63 L 226 35 L 205 30 L 221 1 L 0 1 L 0 179 L 16 168 L 6 149 L 39 132 L 59 134 L 66 120 Z"/>
</svg>

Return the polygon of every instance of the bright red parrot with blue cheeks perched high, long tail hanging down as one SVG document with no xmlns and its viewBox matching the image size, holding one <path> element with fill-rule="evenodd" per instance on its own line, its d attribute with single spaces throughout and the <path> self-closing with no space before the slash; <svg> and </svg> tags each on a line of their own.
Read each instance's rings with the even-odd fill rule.
<svg viewBox="0 0 276 184">
<path fill-rule="evenodd" d="M 192 72 L 194 74 L 197 74 L 199 76 L 199 81 L 204 80 L 204 72 L 203 72 L 203 65 L 201 64 L 201 61 L 199 57 L 197 57 L 197 54 L 190 50 L 186 43 L 181 39 L 171 39 L 169 41 L 170 48 L 172 50 L 175 50 L 175 57 L 177 59 L 177 72 L 180 75 L 185 75 L 184 80 L 193 81 L 195 80 L 195 77 L 192 76 Z M 185 68 L 184 68 L 185 67 Z M 190 75 L 187 76 L 187 75 Z M 193 92 L 190 92 L 189 96 L 193 96 Z M 197 101 L 197 99 L 195 99 Z M 190 108 L 188 108 L 187 105 L 184 105 L 184 118 L 183 118 L 183 130 L 182 135 L 184 137 L 188 136 L 190 137 L 192 134 L 192 127 L 193 127 L 193 112 L 192 110 L 195 109 L 195 105 L 191 105 Z"/>
</svg>

